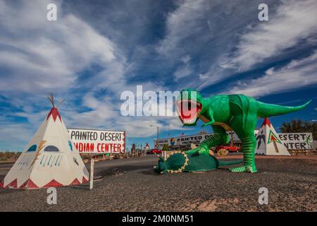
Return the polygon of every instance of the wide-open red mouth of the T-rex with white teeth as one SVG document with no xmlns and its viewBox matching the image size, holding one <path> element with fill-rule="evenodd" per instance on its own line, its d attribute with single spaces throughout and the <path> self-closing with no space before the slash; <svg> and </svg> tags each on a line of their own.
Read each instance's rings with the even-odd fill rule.
<svg viewBox="0 0 317 226">
<path fill-rule="evenodd" d="M 194 124 L 202 108 L 201 103 L 186 99 L 178 100 L 176 106 L 182 124 Z"/>
</svg>

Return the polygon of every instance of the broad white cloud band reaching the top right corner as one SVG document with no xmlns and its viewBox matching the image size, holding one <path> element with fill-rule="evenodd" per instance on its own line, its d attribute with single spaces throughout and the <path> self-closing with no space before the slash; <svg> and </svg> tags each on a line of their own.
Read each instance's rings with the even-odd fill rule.
<svg viewBox="0 0 317 226">
<path fill-rule="evenodd" d="M 274 57 L 288 47 L 317 33 L 317 1 L 282 1 L 269 20 L 258 22 L 241 36 L 237 51 L 223 67 L 240 71 L 249 69 L 264 59 Z"/>
</svg>

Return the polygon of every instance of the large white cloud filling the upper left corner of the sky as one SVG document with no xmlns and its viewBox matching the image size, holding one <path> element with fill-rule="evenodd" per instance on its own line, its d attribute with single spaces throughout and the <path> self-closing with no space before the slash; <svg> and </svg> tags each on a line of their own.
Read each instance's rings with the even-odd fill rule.
<svg viewBox="0 0 317 226">
<path fill-rule="evenodd" d="M 92 62 L 109 66 L 116 61 L 116 45 L 79 18 L 63 15 L 46 20 L 52 1 L 23 1 L 20 6 L 1 1 L 0 90 L 47 93 L 75 86 L 77 73 Z"/>
</svg>

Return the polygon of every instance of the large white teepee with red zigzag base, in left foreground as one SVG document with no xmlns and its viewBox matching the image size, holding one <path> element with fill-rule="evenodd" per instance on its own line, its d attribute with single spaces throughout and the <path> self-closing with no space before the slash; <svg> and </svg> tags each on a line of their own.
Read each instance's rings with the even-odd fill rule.
<svg viewBox="0 0 317 226">
<path fill-rule="evenodd" d="M 53 106 L 51 111 L 4 177 L 4 188 L 40 189 L 89 180 L 84 162 L 54 106 L 52 94 L 49 100 Z"/>
</svg>

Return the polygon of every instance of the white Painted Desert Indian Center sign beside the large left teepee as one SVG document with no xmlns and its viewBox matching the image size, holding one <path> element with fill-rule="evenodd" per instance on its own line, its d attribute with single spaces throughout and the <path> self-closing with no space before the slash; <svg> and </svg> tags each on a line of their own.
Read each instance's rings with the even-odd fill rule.
<svg viewBox="0 0 317 226">
<path fill-rule="evenodd" d="M 125 153 L 125 131 L 68 129 L 68 132 L 82 154 Z"/>
</svg>

